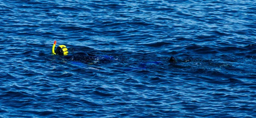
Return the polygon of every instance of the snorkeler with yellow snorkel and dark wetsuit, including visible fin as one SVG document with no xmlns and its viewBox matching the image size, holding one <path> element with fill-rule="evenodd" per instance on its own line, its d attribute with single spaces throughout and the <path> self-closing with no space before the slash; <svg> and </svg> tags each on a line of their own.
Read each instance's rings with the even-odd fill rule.
<svg viewBox="0 0 256 118">
<path fill-rule="evenodd" d="M 98 59 L 98 60 L 113 59 L 113 56 L 96 56 L 96 55 L 93 55 L 90 53 L 85 53 L 85 52 L 73 52 L 73 53 L 69 54 L 67 47 L 65 45 L 59 45 L 56 48 L 56 50 L 55 50 L 55 45 L 56 45 L 56 41 L 54 41 L 53 46 L 52 46 L 52 54 L 64 56 L 65 59 L 69 59 L 72 61 L 90 62 L 95 59 Z M 177 63 L 177 59 L 175 57 L 171 56 L 169 58 L 168 62 Z M 158 64 L 161 62 L 147 62 L 145 64 L 148 64 L 148 63 Z"/>
</svg>

